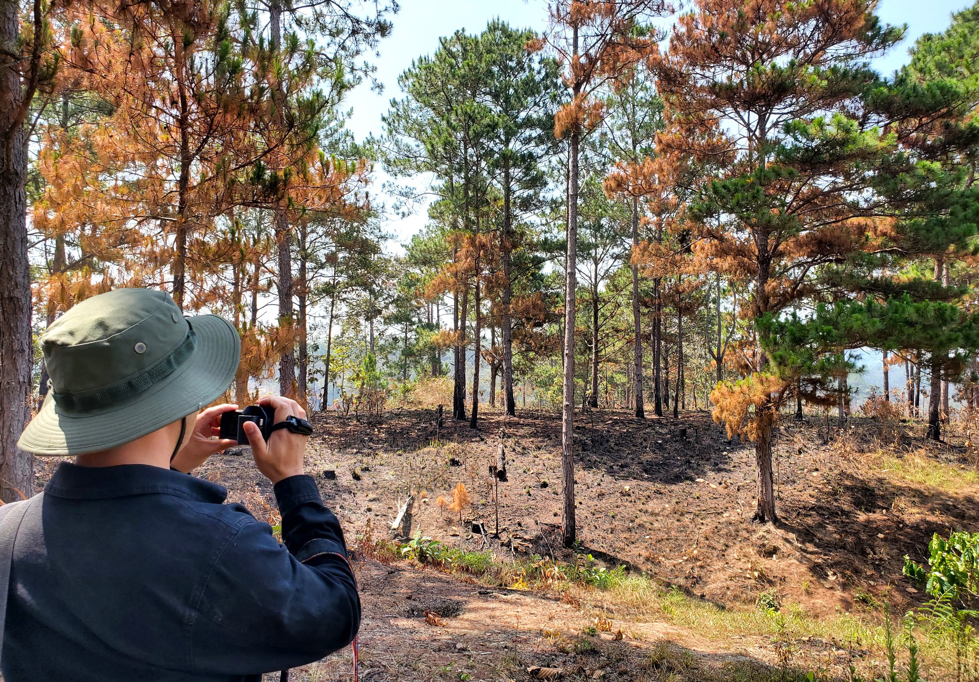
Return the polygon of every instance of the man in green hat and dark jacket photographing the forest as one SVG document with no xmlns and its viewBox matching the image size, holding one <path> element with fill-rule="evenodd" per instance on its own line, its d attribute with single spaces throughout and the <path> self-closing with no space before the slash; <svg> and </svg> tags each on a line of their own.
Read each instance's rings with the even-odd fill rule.
<svg viewBox="0 0 979 682">
<path fill-rule="evenodd" d="M 41 336 L 51 389 L 19 446 L 61 463 L 16 533 L 0 668 L 6 682 L 257 680 L 354 639 L 356 583 L 337 518 L 303 471 L 303 408 L 266 397 L 244 425 L 282 516 L 272 528 L 191 475 L 235 444 L 216 401 L 240 339 L 170 296 L 84 300 Z M 279 428 L 279 427 L 287 428 Z"/>
</svg>

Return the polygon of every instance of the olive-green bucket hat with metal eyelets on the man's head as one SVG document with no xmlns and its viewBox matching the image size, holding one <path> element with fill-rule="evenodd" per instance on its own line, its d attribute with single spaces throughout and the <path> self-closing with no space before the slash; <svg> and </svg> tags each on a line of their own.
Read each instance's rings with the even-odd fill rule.
<svg viewBox="0 0 979 682">
<path fill-rule="evenodd" d="M 223 318 L 185 318 L 148 289 L 83 300 L 40 341 L 51 389 L 18 446 L 42 456 L 105 450 L 196 412 L 230 386 L 241 354 Z"/>
</svg>

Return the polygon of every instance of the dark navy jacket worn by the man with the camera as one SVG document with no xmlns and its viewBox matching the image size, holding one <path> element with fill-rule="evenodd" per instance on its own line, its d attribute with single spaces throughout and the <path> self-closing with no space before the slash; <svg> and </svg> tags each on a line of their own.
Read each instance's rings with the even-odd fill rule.
<svg viewBox="0 0 979 682">
<path fill-rule="evenodd" d="M 285 546 L 210 481 L 62 464 L 18 534 L 6 682 L 220 680 L 350 643 L 360 602 L 315 481 L 275 485 Z"/>
</svg>

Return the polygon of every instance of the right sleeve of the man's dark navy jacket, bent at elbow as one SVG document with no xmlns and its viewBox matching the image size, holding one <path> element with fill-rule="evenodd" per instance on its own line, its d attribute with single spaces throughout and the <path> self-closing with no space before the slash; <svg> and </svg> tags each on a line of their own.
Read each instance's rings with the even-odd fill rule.
<svg viewBox="0 0 979 682">
<path fill-rule="evenodd" d="M 360 626 L 360 599 L 340 522 L 312 477 L 275 485 L 280 545 L 250 519 L 214 566 L 192 627 L 197 673 L 254 674 L 338 651 Z"/>
</svg>

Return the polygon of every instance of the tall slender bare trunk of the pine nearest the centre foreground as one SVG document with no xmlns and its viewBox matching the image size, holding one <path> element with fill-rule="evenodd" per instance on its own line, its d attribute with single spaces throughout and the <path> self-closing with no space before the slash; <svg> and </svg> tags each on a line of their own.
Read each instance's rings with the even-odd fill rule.
<svg viewBox="0 0 979 682">
<path fill-rule="evenodd" d="M 578 26 L 574 27 L 574 53 L 578 54 Z M 577 92 L 576 92 L 577 94 Z M 581 131 L 572 127 L 568 158 L 568 251 L 564 276 L 564 386 L 561 410 L 561 479 L 564 505 L 561 536 L 565 547 L 577 539 L 575 518 L 575 315 L 578 292 L 578 148 Z"/>
</svg>

